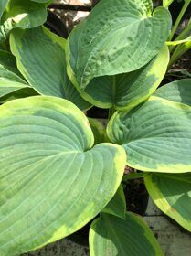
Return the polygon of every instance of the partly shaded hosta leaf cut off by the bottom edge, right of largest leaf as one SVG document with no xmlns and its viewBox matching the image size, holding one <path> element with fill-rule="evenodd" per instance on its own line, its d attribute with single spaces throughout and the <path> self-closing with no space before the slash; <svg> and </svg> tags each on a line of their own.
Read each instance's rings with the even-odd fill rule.
<svg viewBox="0 0 191 256">
<path fill-rule="evenodd" d="M 133 213 L 126 219 L 101 214 L 90 227 L 90 256 L 162 256 L 164 255 L 154 234 Z"/>
</svg>

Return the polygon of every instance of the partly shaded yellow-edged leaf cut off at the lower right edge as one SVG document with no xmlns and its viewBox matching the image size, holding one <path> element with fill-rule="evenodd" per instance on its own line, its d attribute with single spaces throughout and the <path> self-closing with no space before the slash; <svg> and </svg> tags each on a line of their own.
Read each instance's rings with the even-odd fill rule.
<svg viewBox="0 0 191 256">
<path fill-rule="evenodd" d="M 191 174 L 145 174 L 144 180 L 156 206 L 191 231 Z"/>
</svg>

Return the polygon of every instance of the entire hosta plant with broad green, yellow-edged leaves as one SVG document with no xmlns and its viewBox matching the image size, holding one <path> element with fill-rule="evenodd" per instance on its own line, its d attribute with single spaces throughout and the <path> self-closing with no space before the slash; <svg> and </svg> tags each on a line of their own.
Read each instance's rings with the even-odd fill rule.
<svg viewBox="0 0 191 256">
<path fill-rule="evenodd" d="M 125 166 L 139 170 L 125 179 L 142 176 L 154 203 L 191 231 L 191 80 L 157 89 L 169 48 L 189 41 L 169 40 L 167 5 L 150 0 L 101 0 L 67 40 L 42 26 L 46 5 L 0 4 L 3 31 L 12 22 L 0 50 L 0 255 L 95 217 L 91 256 L 163 255 L 126 211 L 121 183 Z M 109 109 L 106 129 L 88 118 L 92 105 Z"/>
</svg>

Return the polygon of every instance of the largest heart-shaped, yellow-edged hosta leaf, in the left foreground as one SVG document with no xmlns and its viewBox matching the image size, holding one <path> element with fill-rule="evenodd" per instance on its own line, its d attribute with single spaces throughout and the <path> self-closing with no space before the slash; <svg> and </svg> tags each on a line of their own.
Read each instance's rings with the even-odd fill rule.
<svg viewBox="0 0 191 256">
<path fill-rule="evenodd" d="M 93 140 L 69 101 L 37 96 L 0 107 L 1 256 L 68 236 L 111 200 L 125 153 L 114 144 L 91 148 Z"/>
</svg>

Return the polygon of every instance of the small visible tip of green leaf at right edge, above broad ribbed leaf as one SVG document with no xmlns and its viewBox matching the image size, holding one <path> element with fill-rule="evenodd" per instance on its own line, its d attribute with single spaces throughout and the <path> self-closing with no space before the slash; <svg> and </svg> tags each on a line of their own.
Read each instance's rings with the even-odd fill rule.
<svg viewBox="0 0 191 256">
<path fill-rule="evenodd" d="M 154 96 L 191 106 L 191 79 L 175 80 L 155 91 Z"/>
</svg>

